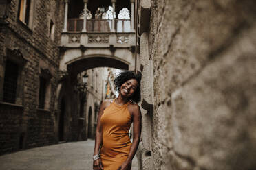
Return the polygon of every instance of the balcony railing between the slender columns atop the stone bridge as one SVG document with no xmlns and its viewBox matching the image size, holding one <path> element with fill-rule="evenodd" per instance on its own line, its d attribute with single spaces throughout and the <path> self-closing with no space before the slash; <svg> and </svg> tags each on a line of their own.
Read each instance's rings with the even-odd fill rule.
<svg viewBox="0 0 256 170">
<path fill-rule="evenodd" d="M 87 32 L 111 32 L 112 20 L 87 19 Z M 115 19 L 116 32 L 131 32 L 131 21 L 126 19 Z M 83 19 L 68 19 L 67 30 L 69 32 L 81 32 L 83 30 Z"/>
</svg>

